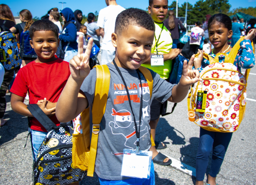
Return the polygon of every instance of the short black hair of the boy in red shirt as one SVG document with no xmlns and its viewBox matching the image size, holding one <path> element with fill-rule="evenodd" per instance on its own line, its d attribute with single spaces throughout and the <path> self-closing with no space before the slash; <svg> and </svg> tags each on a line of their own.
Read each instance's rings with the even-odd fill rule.
<svg viewBox="0 0 256 185">
<path fill-rule="evenodd" d="M 53 22 L 43 19 L 35 21 L 29 28 L 30 38 L 33 39 L 35 31 L 53 31 L 55 36 L 59 38 L 59 28 Z"/>
</svg>

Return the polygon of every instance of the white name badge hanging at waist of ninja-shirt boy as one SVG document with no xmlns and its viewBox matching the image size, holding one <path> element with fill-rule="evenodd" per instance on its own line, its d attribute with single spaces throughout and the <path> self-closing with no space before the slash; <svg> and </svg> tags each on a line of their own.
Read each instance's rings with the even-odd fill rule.
<svg viewBox="0 0 256 185">
<path fill-rule="evenodd" d="M 122 176 L 131 178 L 149 179 L 152 151 L 140 151 L 124 149 L 124 157 L 122 163 Z"/>
</svg>

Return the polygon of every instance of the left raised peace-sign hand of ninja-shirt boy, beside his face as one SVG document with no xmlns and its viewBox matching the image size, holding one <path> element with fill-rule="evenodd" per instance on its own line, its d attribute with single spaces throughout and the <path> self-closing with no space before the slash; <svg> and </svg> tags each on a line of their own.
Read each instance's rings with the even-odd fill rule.
<svg viewBox="0 0 256 185">
<path fill-rule="evenodd" d="M 84 53 L 84 39 L 79 35 L 77 55 L 69 61 L 70 73 L 73 79 L 84 79 L 90 73 L 89 59 L 92 50 L 93 39 L 90 38 Z"/>
</svg>

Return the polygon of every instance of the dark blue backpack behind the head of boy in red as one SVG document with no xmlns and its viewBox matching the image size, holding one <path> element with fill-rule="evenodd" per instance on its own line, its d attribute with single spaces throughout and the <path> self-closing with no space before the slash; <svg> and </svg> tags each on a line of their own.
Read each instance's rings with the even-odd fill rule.
<svg viewBox="0 0 256 185">
<path fill-rule="evenodd" d="M 30 45 L 30 35 L 29 31 L 22 31 L 20 34 L 20 54 L 21 57 L 26 58 L 37 58 L 35 50 Z"/>
</svg>

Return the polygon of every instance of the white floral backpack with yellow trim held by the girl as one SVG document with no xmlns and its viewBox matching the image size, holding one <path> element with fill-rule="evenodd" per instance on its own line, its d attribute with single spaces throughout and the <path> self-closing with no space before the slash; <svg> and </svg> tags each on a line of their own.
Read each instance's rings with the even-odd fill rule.
<svg viewBox="0 0 256 185">
<path fill-rule="evenodd" d="M 213 59 L 209 54 L 203 53 L 210 65 L 200 73 L 203 81 L 198 81 L 191 87 L 188 116 L 190 121 L 205 130 L 235 132 L 242 122 L 250 69 L 246 69 L 243 75 L 233 63 L 243 39 L 244 37 L 239 39 L 228 55 L 218 53 Z M 219 62 L 219 55 L 225 55 L 224 62 Z"/>
</svg>

